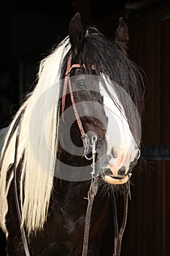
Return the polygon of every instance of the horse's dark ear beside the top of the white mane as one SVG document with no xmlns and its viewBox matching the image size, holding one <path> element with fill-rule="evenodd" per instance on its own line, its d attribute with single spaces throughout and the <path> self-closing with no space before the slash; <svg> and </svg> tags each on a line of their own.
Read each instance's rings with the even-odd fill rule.
<svg viewBox="0 0 170 256">
<path fill-rule="evenodd" d="M 69 23 L 69 40 L 72 45 L 72 50 L 75 56 L 82 49 L 85 38 L 85 32 L 82 28 L 81 16 L 77 12 Z"/>
</svg>

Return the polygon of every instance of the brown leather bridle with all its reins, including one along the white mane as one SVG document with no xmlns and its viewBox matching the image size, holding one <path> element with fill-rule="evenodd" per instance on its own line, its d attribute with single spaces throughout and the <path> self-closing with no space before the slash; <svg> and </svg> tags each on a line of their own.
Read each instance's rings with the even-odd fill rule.
<svg viewBox="0 0 170 256">
<path fill-rule="evenodd" d="M 65 74 L 65 80 L 63 84 L 63 97 L 61 101 L 61 113 L 63 113 L 65 108 L 65 100 L 66 100 L 66 90 L 67 86 L 69 85 L 69 94 L 72 100 L 72 107 L 74 109 L 74 114 L 77 119 L 77 124 L 81 132 L 81 138 L 83 145 L 85 147 L 85 154 L 89 146 L 92 147 L 92 157 L 87 159 L 93 159 L 93 164 L 91 165 L 93 167 L 93 171 L 91 172 L 91 184 L 90 188 L 88 190 L 88 207 L 85 215 L 85 230 L 84 230 L 84 238 L 83 238 L 83 247 L 82 247 L 82 256 L 88 256 L 88 241 L 89 241 L 89 233 L 90 233 L 90 217 L 91 212 L 93 208 L 93 200 L 96 196 L 96 193 L 98 191 L 98 178 L 95 175 L 95 157 L 96 157 L 96 140 L 97 138 L 95 136 L 92 137 L 92 144 L 89 143 L 88 135 L 85 133 L 85 130 L 82 126 L 82 121 L 80 120 L 80 116 L 77 111 L 77 107 L 74 102 L 74 96 L 72 91 L 72 85 L 69 78 L 70 72 L 74 67 L 85 67 L 84 65 L 81 66 L 80 64 L 73 64 L 71 67 L 71 59 L 72 56 L 69 56 L 69 59 L 67 61 L 67 67 L 66 67 L 66 74 Z M 94 68 L 93 68 L 94 69 Z M 16 140 L 15 140 L 15 159 L 14 159 L 14 194 L 15 194 L 15 205 L 17 208 L 17 214 L 18 214 L 18 221 L 20 224 L 20 232 L 23 240 L 23 246 L 24 251 L 26 253 L 26 256 L 30 256 L 29 249 L 28 249 L 28 242 L 26 239 L 26 233 L 24 230 L 24 227 L 22 225 L 22 219 L 21 219 L 21 212 L 20 212 L 20 205 L 18 201 L 18 187 L 17 187 L 17 164 L 18 164 L 18 143 L 19 143 L 19 137 L 20 137 L 20 127 L 21 127 L 21 121 L 23 118 L 25 109 L 21 110 L 18 118 L 15 121 L 15 125 L 10 132 L 8 141 L 10 138 L 12 138 L 12 134 L 17 130 L 16 132 Z M 7 143 L 8 145 L 8 143 Z M 115 203 L 115 195 L 114 195 L 114 227 L 115 227 L 115 254 L 114 256 L 120 256 L 120 248 L 121 248 L 121 241 L 123 237 L 123 233 L 125 230 L 126 220 L 127 220 L 127 213 L 128 213 L 128 195 L 129 195 L 129 181 L 128 181 L 128 187 L 126 189 L 126 192 L 124 194 L 124 216 L 123 216 L 123 223 L 120 227 L 120 232 L 118 232 L 118 225 L 117 225 L 117 210 L 116 210 L 116 203 Z"/>
</svg>

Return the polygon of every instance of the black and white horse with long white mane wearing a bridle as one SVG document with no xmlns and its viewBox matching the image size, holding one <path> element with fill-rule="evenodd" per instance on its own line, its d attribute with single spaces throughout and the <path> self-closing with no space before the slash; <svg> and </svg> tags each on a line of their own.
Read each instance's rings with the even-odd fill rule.
<svg viewBox="0 0 170 256">
<path fill-rule="evenodd" d="M 96 26 L 84 29 L 77 12 L 3 132 L 0 223 L 7 255 L 120 255 L 140 157 L 142 99 L 123 18 L 111 40 Z"/>
</svg>

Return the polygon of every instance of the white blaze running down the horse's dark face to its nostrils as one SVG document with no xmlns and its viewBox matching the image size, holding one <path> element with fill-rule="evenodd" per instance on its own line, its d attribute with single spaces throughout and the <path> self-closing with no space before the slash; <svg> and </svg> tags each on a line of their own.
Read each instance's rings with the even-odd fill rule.
<svg viewBox="0 0 170 256">
<path fill-rule="evenodd" d="M 128 171 L 130 162 L 132 162 L 136 157 L 138 149 L 134 136 L 129 128 L 123 105 L 120 103 L 115 89 L 113 89 L 113 83 L 108 79 L 106 80 L 105 77 L 104 80 L 105 83 L 107 83 L 109 93 L 114 99 L 113 101 L 104 89 L 104 86 L 99 83 L 100 93 L 104 97 L 104 110 L 108 117 L 107 154 L 112 157 L 109 160 L 107 167 L 112 170 L 113 176 L 117 176 L 117 171 L 123 166 L 125 166 L 125 172 Z M 113 148 L 116 153 L 116 157 L 112 154 Z"/>
</svg>

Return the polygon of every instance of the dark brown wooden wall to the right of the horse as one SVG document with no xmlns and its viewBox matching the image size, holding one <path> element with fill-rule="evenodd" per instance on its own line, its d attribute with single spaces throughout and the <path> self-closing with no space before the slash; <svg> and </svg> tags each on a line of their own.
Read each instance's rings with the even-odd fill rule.
<svg viewBox="0 0 170 256">
<path fill-rule="evenodd" d="M 170 145 L 170 8 L 130 23 L 130 58 L 147 76 L 144 146 Z M 170 161 L 147 161 L 132 176 L 125 256 L 170 255 Z"/>
</svg>

